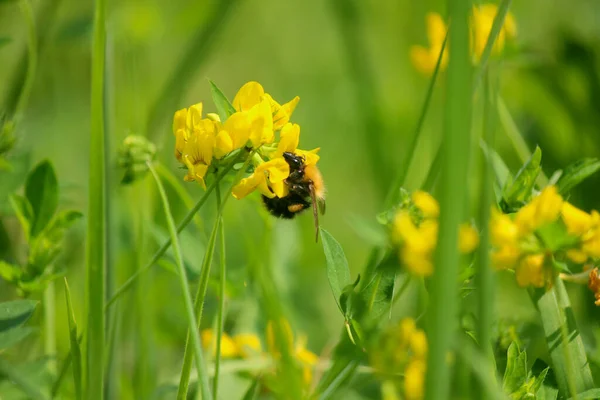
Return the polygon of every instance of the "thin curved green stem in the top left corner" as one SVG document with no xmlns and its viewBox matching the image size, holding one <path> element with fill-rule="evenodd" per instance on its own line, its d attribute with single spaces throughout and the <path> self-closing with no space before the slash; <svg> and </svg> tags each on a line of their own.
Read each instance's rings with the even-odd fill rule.
<svg viewBox="0 0 600 400">
<path fill-rule="evenodd" d="M 27 26 L 27 73 L 25 75 L 25 81 L 23 82 L 23 88 L 21 89 L 21 93 L 19 93 L 17 105 L 15 106 L 15 124 L 21 120 L 25 107 L 29 101 L 38 61 L 38 42 L 31 3 L 29 0 L 20 0 L 19 7 L 25 19 L 25 25 Z"/>
</svg>

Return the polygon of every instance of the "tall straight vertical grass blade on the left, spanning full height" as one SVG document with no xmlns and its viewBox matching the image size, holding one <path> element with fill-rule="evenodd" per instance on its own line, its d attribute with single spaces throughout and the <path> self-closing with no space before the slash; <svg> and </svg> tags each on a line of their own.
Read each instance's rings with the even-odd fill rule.
<svg viewBox="0 0 600 400">
<path fill-rule="evenodd" d="M 91 138 L 86 236 L 85 398 L 104 397 L 104 292 L 106 269 L 106 188 L 104 131 L 105 3 L 96 0 L 92 44 Z"/>
</svg>

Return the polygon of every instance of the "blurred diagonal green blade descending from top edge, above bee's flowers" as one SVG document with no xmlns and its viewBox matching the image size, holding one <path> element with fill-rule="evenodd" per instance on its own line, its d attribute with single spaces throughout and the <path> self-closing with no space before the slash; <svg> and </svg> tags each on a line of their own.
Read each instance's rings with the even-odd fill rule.
<svg viewBox="0 0 600 400">
<path fill-rule="evenodd" d="M 150 132 L 151 139 L 157 139 L 157 135 L 164 128 L 164 110 L 173 110 L 177 107 L 180 96 L 185 94 L 190 81 L 195 77 L 197 71 L 206 60 L 212 50 L 216 38 L 223 28 L 227 19 L 231 16 L 238 0 L 221 0 L 210 2 L 216 4 L 210 10 L 204 26 L 197 30 L 196 35 L 190 40 L 188 50 L 180 59 L 169 79 L 165 82 L 163 89 L 148 113 L 145 132 Z M 155 140 L 156 141 L 156 140 Z"/>
</svg>

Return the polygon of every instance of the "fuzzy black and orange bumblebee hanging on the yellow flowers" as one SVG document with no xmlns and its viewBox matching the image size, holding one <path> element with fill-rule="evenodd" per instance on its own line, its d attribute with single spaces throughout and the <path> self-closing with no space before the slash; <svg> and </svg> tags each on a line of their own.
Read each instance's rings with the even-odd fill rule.
<svg viewBox="0 0 600 400">
<path fill-rule="evenodd" d="M 290 175 L 284 181 L 288 194 L 269 198 L 262 195 L 267 210 L 278 218 L 291 219 L 312 206 L 316 239 L 319 239 L 319 211 L 325 213 L 325 186 L 321 172 L 315 165 L 305 165 L 304 157 L 285 152 L 283 158 L 290 166 Z M 318 206 L 317 206 L 318 203 Z"/>
</svg>

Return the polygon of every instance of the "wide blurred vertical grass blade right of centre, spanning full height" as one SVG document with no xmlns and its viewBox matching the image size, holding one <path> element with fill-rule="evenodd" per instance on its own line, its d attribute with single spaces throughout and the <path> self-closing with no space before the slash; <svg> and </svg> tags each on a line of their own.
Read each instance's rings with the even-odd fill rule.
<svg viewBox="0 0 600 400">
<path fill-rule="evenodd" d="M 469 0 L 449 0 L 452 20 L 449 46 L 452 49 L 447 75 L 445 140 L 442 142 L 442 179 L 440 185 L 440 225 L 435 253 L 435 272 L 431 285 L 427 337 L 425 399 L 448 398 L 450 366 L 447 352 L 458 327 L 458 226 L 463 219 L 468 196 L 467 168 L 471 132 L 472 71 L 469 55 Z"/>
</svg>

